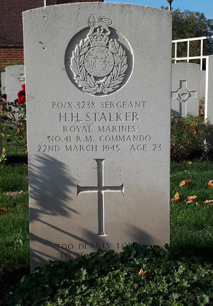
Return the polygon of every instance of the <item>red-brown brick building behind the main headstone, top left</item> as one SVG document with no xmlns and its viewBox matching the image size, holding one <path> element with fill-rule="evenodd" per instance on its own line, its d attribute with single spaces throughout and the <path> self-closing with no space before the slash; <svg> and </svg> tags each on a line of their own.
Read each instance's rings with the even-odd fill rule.
<svg viewBox="0 0 213 306">
<path fill-rule="evenodd" d="M 81 0 L 46 0 L 47 6 Z M 103 1 L 103 0 L 84 0 Z M 82 1 L 83 2 L 83 1 Z M 44 0 L 0 0 L 0 68 L 8 63 L 24 63 L 22 12 L 44 6 Z"/>
</svg>

